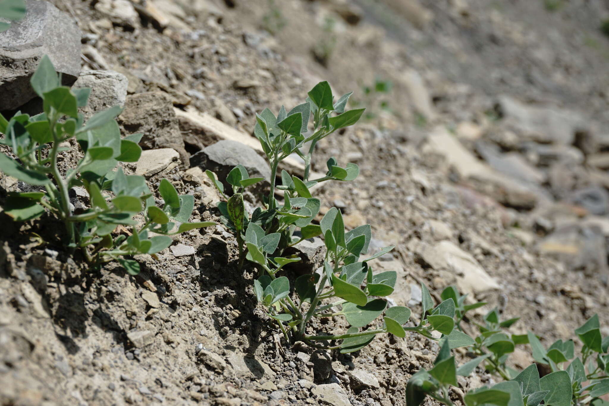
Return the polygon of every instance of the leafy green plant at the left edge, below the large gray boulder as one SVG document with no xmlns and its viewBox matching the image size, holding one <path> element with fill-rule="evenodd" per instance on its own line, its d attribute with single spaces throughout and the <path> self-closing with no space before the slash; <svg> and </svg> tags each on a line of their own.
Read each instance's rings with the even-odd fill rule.
<svg viewBox="0 0 609 406">
<path fill-rule="evenodd" d="M 169 236 L 215 224 L 188 223 L 194 197 L 179 196 L 166 179 L 158 188 L 164 200 L 163 208 L 158 208 L 144 177 L 125 175 L 120 167 L 114 170 L 119 161 L 137 162 L 142 152 L 138 145 L 141 134 L 121 139 L 115 120 L 120 107 L 96 113 L 85 122 L 77 108 L 86 105 L 91 89 L 61 86 L 46 56 L 30 82 L 43 99 L 44 113 L 32 117 L 16 113 L 9 121 L 0 114 L 0 133 L 5 135 L 0 144 L 10 147 L 16 156 L 0 153 L 0 170 L 40 191 L 9 193 L 3 205 L 6 214 L 26 221 L 48 209 L 65 223 L 68 247 L 81 248 L 91 265 L 116 259 L 131 274 L 139 272 L 139 265 L 122 256 L 157 253 L 171 245 Z M 58 158 L 70 150 L 62 143 L 72 138 L 76 138 L 82 158 L 62 174 Z M 77 214 L 68 196 L 74 186 L 85 187 L 91 202 L 90 208 Z M 133 217 L 142 211 L 146 215 L 138 225 Z M 177 222 L 181 224 L 174 230 Z M 118 225 L 132 226 L 131 235 L 112 237 Z M 152 233 L 160 235 L 150 236 Z"/>
</svg>

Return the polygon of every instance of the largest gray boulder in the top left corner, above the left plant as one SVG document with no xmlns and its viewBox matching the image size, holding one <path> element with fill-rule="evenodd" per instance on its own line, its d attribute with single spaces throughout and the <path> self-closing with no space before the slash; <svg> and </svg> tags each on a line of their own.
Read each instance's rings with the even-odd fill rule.
<svg viewBox="0 0 609 406">
<path fill-rule="evenodd" d="M 61 72 L 63 84 L 80 73 L 81 33 L 74 21 L 46 1 L 27 0 L 24 19 L 0 33 L 0 111 L 18 108 L 36 96 L 30 77 L 43 55 Z"/>
</svg>

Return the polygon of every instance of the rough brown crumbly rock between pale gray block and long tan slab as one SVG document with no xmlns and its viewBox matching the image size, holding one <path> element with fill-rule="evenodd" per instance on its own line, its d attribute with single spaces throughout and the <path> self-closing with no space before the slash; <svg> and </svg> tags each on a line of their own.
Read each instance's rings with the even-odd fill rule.
<svg viewBox="0 0 609 406">
<path fill-rule="evenodd" d="M 143 133 L 139 145 L 144 149 L 173 148 L 185 156 L 174 105 L 167 94 L 146 92 L 127 96 L 125 110 L 118 120 L 128 133 Z"/>
</svg>

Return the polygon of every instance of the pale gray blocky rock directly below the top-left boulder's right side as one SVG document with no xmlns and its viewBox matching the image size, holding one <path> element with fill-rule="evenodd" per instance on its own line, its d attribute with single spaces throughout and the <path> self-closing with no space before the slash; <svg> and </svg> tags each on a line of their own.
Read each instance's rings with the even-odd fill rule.
<svg viewBox="0 0 609 406">
<path fill-rule="evenodd" d="M 85 119 L 88 119 L 98 111 L 107 110 L 116 105 L 124 106 L 128 84 L 125 75 L 119 72 L 83 71 L 80 72 L 80 76 L 72 88 L 91 89 L 88 104 L 80 108 L 80 113 L 85 114 Z"/>
</svg>

